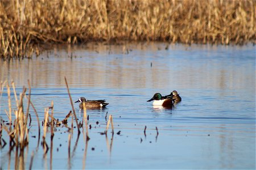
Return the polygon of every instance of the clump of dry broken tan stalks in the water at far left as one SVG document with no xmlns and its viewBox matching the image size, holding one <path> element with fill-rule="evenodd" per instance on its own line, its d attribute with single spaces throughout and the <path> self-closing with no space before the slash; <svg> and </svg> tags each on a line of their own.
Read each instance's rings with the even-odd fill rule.
<svg viewBox="0 0 256 170">
<path fill-rule="evenodd" d="M 11 105 L 11 87 L 9 86 L 9 82 L 6 80 L 5 82 L 1 82 L 1 87 L 0 87 L 0 97 L 2 97 L 3 90 L 6 88 L 7 91 L 7 96 L 8 96 L 8 111 L 5 109 L 6 116 L 9 119 L 9 123 L 4 123 L 6 121 L 3 121 L 2 118 L 1 120 L 1 129 L 0 129 L 0 137 L 2 137 L 2 131 L 5 130 L 6 133 L 9 135 L 10 141 L 10 148 L 13 150 L 14 147 L 16 149 L 23 151 L 24 148 L 28 145 L 28 126 L 31 126 L 31 116 L 29 114 L 29 108 L 30 106 L 34 109 L 35 116 L 38 122 L 38 136 L 40 139 L 40 122 L 39 122 L 39 117 L 38 113 L 36 112 L 36 109 L 34 105 L 32 104 L 30 100 L 31 96 L 31 86 L 30 86 L 30 81 L 28 80 L 28 95 L 26 95 L 27 88 L 23 87 L 22 93 L 20 93 L 20 97 L 18 100 L 18 97 L 16 96 L 16 89 L 14 82 L 11 83 L 13 87 L 13 94 L 15 98 L 15 104 L 16 107 Z M 25 112 L 25 108 L 23 105 L 24 98 L 27 99 L 27 108 Z M 49 109 L 51 109 L 51 114 L 49 115 Z M 54 126 L 60 126 L 61 124 L 67 126 L 68 118 L 71 116 L 72 112 L 70 111 L 67 116 L 64 118 L 62 121 L 58 121 L 53 117 L 53 101 L 51 103 L 51 107 L 45 108 L 44 109 L 44 121 L 43 121 L 43 147 L 45 154 L 48 151 L 48 145 L 46 143 L 46 133 L 47 133 L 47 128 L 51 128 L 51 141 L 53 139 L 54 133 L 53 133 L 53 128 Z M 15 115 L 15 117 L 12 117 L 12 115 Z M 49 121 L 49 117 L 51 117 L 51 121 Z M 30 119 L 30 123 L 28 124 L 28 119 Z M 4 145 L 6 144 L 5 140 L 3 138 L 0 138 L 0 147 L 2 147 L 2 141 L 4 142 Z M 10 151 L 11 151 L 10 150 Z"/>
</svg>

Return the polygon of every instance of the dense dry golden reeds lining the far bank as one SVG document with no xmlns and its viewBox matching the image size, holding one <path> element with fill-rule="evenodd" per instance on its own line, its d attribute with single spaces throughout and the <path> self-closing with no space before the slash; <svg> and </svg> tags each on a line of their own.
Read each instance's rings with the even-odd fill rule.
<svg viewBox="0 0 256 170">
<path fill-rule="evenodd" d="M 256 1 L 1 1 L 0 58 L 40 44 L 88 41 L 255 42 Z"/>
</svg>

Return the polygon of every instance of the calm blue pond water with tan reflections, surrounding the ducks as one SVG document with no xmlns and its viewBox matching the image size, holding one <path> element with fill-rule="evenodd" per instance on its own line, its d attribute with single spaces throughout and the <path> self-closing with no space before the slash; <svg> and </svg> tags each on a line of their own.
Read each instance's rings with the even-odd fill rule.
<svg viewBox="0 0 256 170">
<path fill-rule="evenodd" d="M 90 140 L 86 143 L 85 135 L 74 129 L 70 152 L 68 129 L 56 128 L 52 147 L 48 129 L 46 155 L 31 108 L 28 147 L 21 156 L 9 152 L 9 145 L 3 147 L 1 168 L 13 169 L 21 162 L 28 169 L 34 152 L 34 169 L 255 169 L 255 46 L 165 48 L 164 43 L 56 46 L 38 58 L 0 61 L 1 80 L 14 80 L 18 93 L 30 80 L 40 122 L 51 101 L 59 120 L 72 110 L 64 76 L 73 102 L 84 96 L 109 103 L 87 111 Z M 168 95 L 172 90 L 182 97 L 175 108 L 146 102 L 155 92 Z M 81 121 L 83 112 L 74 105 Z M 3 120 L 8 119 L 5 109 L 6 88 Z M 100 134 L 106 112 L 114 122 L 114 135 L 110 128 L 107 137 Z M 9 141 L 5 131 L 2 138 Z"/>
</svg>

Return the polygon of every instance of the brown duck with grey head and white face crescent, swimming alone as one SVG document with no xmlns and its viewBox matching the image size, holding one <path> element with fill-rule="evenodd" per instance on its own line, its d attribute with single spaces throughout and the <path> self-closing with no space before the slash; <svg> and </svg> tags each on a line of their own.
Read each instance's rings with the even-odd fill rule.
<svg viewBox="0 0 256 170">
<path fill-rule="evenodd" d="M 104 108 L 109 103 L 105 103 L 106 100 L 86 100 L 85 97 L 80 97 L 75 103 L 80 102 L 79 108 L 82 109 L 82 103 L 85 103 L 86 108 Z"/>
</svg>

